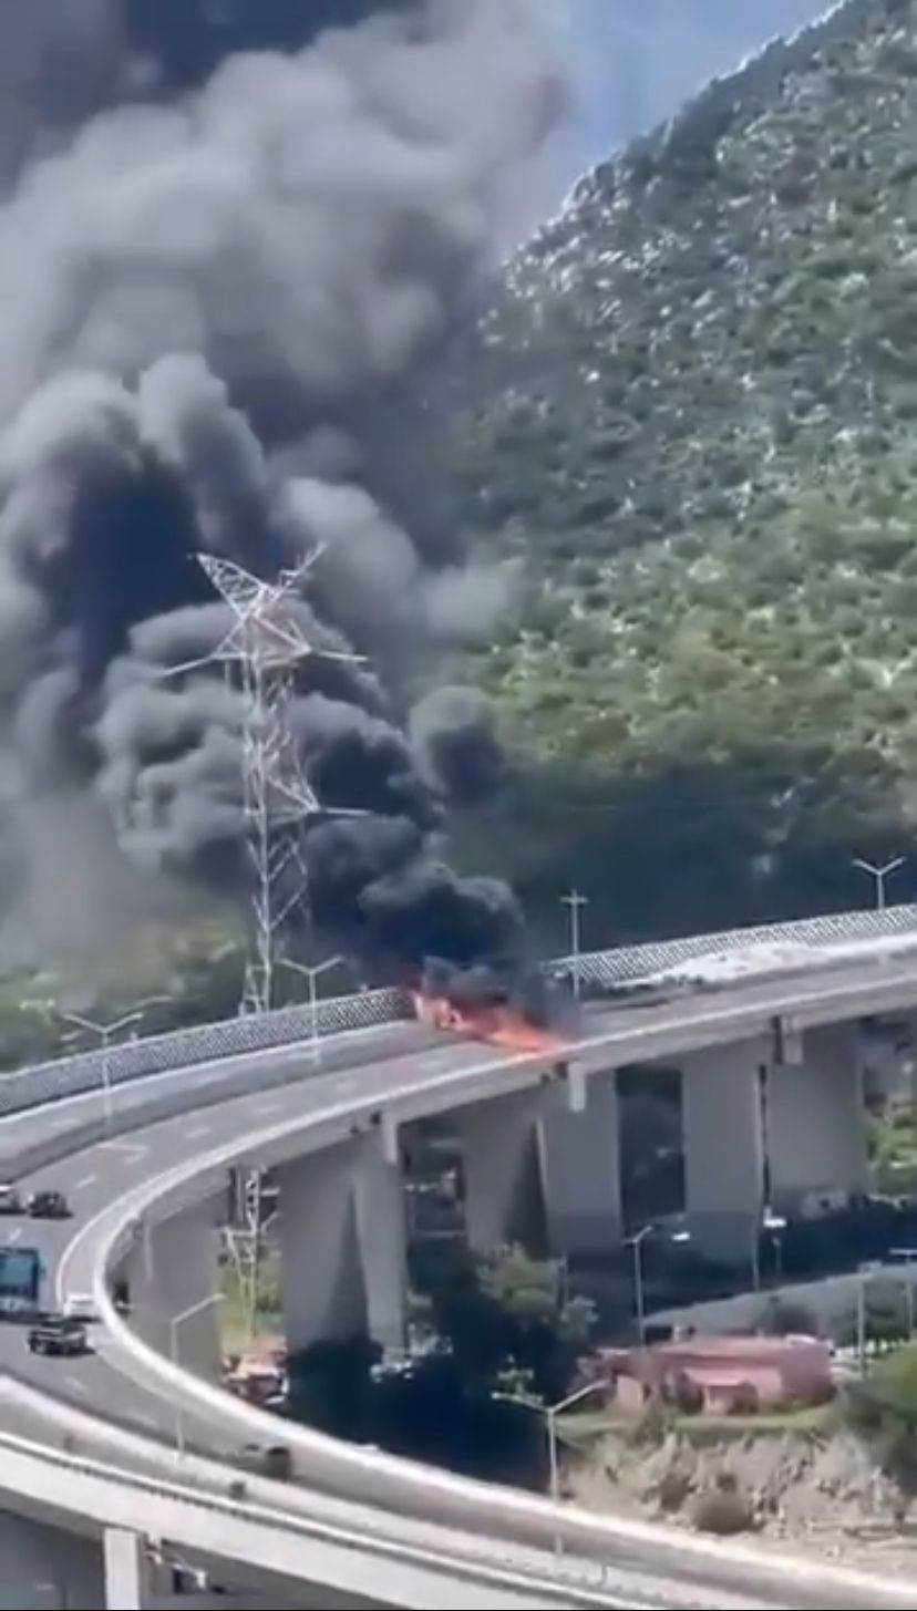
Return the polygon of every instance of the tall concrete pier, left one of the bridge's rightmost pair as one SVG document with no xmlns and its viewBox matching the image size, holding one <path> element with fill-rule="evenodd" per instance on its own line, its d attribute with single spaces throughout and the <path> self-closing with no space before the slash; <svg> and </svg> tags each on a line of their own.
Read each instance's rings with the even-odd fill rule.
<svg viewBox="0 0 917 1611">
<path fill-rule="evenodd" d="M 685 1195 L 698 1253 L 751 1265 L 764 1207 L 762 1076 L 769 1047 L 737 1041 L 682 1062 Z"/>
</svg>

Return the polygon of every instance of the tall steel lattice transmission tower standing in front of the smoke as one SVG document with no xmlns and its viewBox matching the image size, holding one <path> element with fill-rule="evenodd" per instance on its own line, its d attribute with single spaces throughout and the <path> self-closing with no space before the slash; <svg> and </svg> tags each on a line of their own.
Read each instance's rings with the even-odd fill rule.
<svg viewBox="0 0 917 1611">
<path fill-rule="evenodd" d="M 311 817 L 353 817 L 326 810 L 300 759 L 292 725 L 297 673 L 305 661 L 358 662 L 356 654 L 316 649 L 297 619 L 300 586 L 321 551 L 277 582 L 263 582 L 229 559 L 198 554 L 206 577 L 229 604 L 234 623 L 203 664 L 237 667 L 243 698 L 242 778 L 248 855 L 253 870 L 253 933 L 243 1013 L 268 1012 L 274 991 L 274 949 L 297 905 L 311 918 L 305 826 Z M 189 667 L 179 667 L 189 670 Z"/>
</svg>

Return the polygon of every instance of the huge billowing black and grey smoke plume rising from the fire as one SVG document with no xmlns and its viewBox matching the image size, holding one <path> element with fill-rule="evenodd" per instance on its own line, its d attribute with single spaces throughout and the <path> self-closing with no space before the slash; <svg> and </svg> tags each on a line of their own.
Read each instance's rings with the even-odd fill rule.
<svg viewBox="0 0 917 1611">
<path fill-rule="evenodd" d="M 179 10 L 201 23 L 180 48 Z M 322 546 L 301 625 L 364 661 L 308 661 L 293 727 L 322 802 L 364 815 L 309 831 L 317 917 L 390 963 L 503 957 L 509 891 L 440 860 L 448 799 L 498 756 L 482 702 L 430 680 L 498 586 L 443 517 L 429 380 L 558 84 L 527 0 L 292 50 L 306 10 L 332 11 L 66 8 L 110 71 L 76 111 L 48 90 L 0 208 L 3 789 L 32 831 L 37 801 L 79 797 L 150 875 L 242 880 L 240 694 L 163 673 L 229 625 L 198 551 L 274 575 Z M 35 8 L 44 71 L 60 19 Z M 288 53 L 218 60 L 234 43 Z"/>
</svg>

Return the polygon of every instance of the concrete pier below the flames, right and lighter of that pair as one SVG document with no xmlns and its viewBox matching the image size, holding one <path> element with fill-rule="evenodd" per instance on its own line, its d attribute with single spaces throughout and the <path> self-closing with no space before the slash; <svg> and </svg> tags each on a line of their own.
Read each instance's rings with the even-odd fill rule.
<svg viewBox="0 0 917 1611">
<path fill-rule="evenodd" d="M 620 1245 L 620 1139 L 614 1070 L 574 1078 L 541 1121 L 548 1245 L 554 1257 Z"/>
</svg>

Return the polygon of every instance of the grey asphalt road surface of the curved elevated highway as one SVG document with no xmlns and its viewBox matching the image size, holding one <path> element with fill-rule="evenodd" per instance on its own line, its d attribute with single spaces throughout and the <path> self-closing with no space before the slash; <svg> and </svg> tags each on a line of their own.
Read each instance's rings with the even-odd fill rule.
<svg viewBox="0 0 917 1611">
<path fill-rule="evenodd" d="M 806 1021 L 817 1021 L 822 1012 L 838 1018 L 859 1017 L 869 1010 L 862 1005 L 864 996 L 888 1010 L 915 1007 L 917 970 L 911 963 L 896 960 L 888 967 L 870 968 L 864 983 L 864 970 L 848 963 L 825 967 L 804 979 L 774 978 L 677 1004 L 603 1010 L 588 1018 L 587 1046 L 590 1055 L 598 1055 L 596 1042 L 601 1041 L 608 1049 L 608 1066 L 616 1066 L 640 1055 L 664 1055 L 674 1046 L 688 1049 L 733 1033 L 740 1037 L 748 1033 L 749 1023 L 766 1028 L 774 1015 L 799 1015 Z M 269 1157 L 271 1149 L 282 1144 L 288 1133 L 305 1133 L 306 1126 L 314 1129 L 342 1112 L 379 1104 L 392 1105 L 400 1116 L 419 1116 L 422 1112 L 437 1112 L 472 1100 L 482 1068 L 492 1073 L 495 1068 L 503 1068 L 508 1081 L 524 1078 L 530 1070 L 530 1058 L 500 1058 L 490 1049 L 461 1042 L 430 1047 L 429 1036 L 422 1031 L 401 1033 L 408 1037 L 398 1042 L 401 1055 L 390 1060 L 309 1075 L 282 1089 L 258 1089 L 198 1108 L 193 1115 L 184 1113 L 153 1124 L 147 1123 L 129 1134 L 90 1145 L 37 1171 L 23 1186 L 63 1189 L 71 1199 L 74 1218 L 66 1223 L 3 1221 L 0 1237 L 6 1242 L 40 1245 L 48 1261 L 50 1282 L 58 1295 L 90 1292 L 100 1258 L 118 1221 L 129 1211 L 131 1200 L 164 1189 L 182 1166 L 189 1178 L 198 1171 L 203 1174 L 210 1171 L 213 1179 L 226 1170 L 229 1153 L 239 1158 Z M 408 1052 L 408 1044 L 414 1044 L 419 1050 Z M 301 1057 L 301 1052 L 298 1055 Z M 155 1078 L 166 1081 L 180 1076 Z M 210 1075 L 206 1070 L 193 1070 L 184 1078 L 197 1084 L 198 1079 L 206 1081 Z M 148 1086 L 150 1081 L 139 1084 Z M 11 1144 L 27 1147 L 35 1136 L 47 1134 L 50 1123 L 63 1128 L 68 1112 L 77 1104 L 97 1100 L 97 1097 L 81 1097 L 3 1121 L 0 1126 L 3 1150 L 8 1152 Z M 119 1105 L 131 1105 L 134 1087 L 118 1092 L 116 1100 Z M 15 1137 L 10 1134 L 11 1128 Z M 114 1331 L 97 1327 L 95 1353 L 84 1360 L 45 1361 L 29 1355 L 19 1327 L 0 1326 L 0 1369 L 26 1377 L 48 1398 L 69 1400 L 100 1419 L 131 1426 L 150 1439 L 169 1442 L 174 1435 L 174 1397 L 163 1390 L 161 1382 L 156 1382 Z M 245 1418 L 259 1419 L 258 1411 L 237 1405 L 229 1395 L 221 1395 L 224 1408 L 214 1408 L 213 1403 L 198 1405 L 198 1389 L 190 1384 L 185 1402 L 189 1442 L 221 1458 L 232 1455 L 245 1440 L 250 1424 Z M 327 1458 L 309 1461 L 298 1452 L 297 1476 L 303 1489 L 292 1485 L 284 1490 L 285 1503 L 288 1506 L 301 1503 L 308 1506 L 311 1516 L 327 1514 L 329 1519 L 346 1519 L 350 1526 L 359 1522 L 367 1532 L 392 1539 L 405 1537 L 406 1529 L 414 1542 L 417 1534 L 430 1537 L 442 1534 L 435 1474 L 424 1474 L 430 1490 L 429 1508 L 417 1505 L 416 1513 L 406 1518 L 396 1514 L 393 1508 L 380 1510 L 379 1505 L 358 1505 L 353 1498 L 335 1497 L 332 1466 L 334 1460 L 329 1466 Z M 384 1492 L 382 1481 L 377 1489 L 379 1503 Z M 516 1526 L 501 1514 L 501 1559 L 532 1564 L 532 1551 L 553 1526 L 546 1513 L 537 1521 L 533 1537 L 530 1522 Z M 832 1587 L 820 1582 L 819 1571 L 801 1577 L 777 1559 L 774 1564 L 767 1564 L 764 1556 L 759 1563 L 741 1561 L 725 1550 L 717 1556 L 699 1550 L 690 1540 L 675 1537 L 669 1540 L 648 1529 L 630 1532 L 619 1529 L 616 1534 L 598 1521 L 577 1526 L 564 1521 L 562 1526 L 569 1535 L 572 1563 L 566 1571 L 575 1576 L 577 1555 L 588 1556 L 591 1563 L 604 1563 L 608 1598 L 593 1603 L 674 1608 L 844 1606 L 851 1611 L 856 1606 L 914 1603 L 914 1585 L 902 1585 L 901 1593 L 851 1584 Z M 456 1548 L 461 1547 L 472 1556 L 490 1553 L 493 1558 L 492 1539 L 482 1539 L 472 1530 L 463 1535 L 454 1526 L 450 1527 L 450 1539 Z M 540 1555 L 538 1561 L 538 1569 L 546 1569 Z"/>
</svg>

